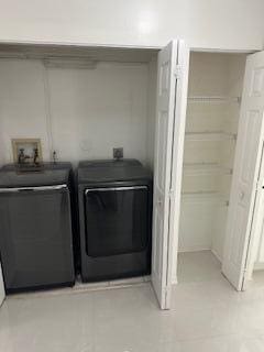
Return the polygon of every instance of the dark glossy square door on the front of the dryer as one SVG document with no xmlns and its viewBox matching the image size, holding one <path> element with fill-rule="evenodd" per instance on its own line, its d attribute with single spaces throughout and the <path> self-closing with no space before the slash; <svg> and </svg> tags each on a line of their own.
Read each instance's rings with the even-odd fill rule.
<svg viewBox="0 0 264 352">
<path fill-rule="evenodd" d="M 150 240 L 147 186 L 88 188 L 85 207 L 88 256 L 145 250 Z"/>
</svg>

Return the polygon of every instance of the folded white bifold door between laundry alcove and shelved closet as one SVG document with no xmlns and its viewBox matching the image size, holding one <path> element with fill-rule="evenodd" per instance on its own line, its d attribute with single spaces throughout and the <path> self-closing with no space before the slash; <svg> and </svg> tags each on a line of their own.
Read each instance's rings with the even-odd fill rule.
<svg viewBox="0 0 264 352">
<path fill-rule="evenodd" d="M 152 283 L 161 308 L 169 309 L 188 82 L 188 50 L 183 42 L 173 41 L 158 53 L 157 70 Z"/>
</svg>

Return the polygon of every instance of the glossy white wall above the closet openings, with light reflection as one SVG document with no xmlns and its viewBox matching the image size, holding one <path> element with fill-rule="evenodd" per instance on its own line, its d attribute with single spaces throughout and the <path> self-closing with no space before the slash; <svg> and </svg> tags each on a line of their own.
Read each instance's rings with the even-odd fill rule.
<svg viewBox="0 0 264 352">
<path fill-rule="evenodd" d="M 0 41 L 263 47 L 263 0 L 0 0 Z"/>
</svg>

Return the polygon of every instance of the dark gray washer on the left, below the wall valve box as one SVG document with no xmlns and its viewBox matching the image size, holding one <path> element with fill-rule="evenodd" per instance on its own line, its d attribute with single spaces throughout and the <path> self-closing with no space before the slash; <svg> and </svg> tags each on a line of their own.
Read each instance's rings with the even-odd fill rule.
<svg viewBox="0 0 264 352">
<path fill-rule="evenodd" d="M 0 254 L 7 293 L 75 282 L 70 213 L 72 166 L 0 170 Z"/>
</svg>

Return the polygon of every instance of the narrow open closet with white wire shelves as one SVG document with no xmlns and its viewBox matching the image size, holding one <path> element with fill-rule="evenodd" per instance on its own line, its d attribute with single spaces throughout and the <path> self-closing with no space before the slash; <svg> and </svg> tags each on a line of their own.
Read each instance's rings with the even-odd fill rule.
<svg viewBox="0 0 264 352">
<path fill-rule="evenodd" d="M 175 283 L 220 279 L 246 54 L 190 53 Z"/>
</svg>

